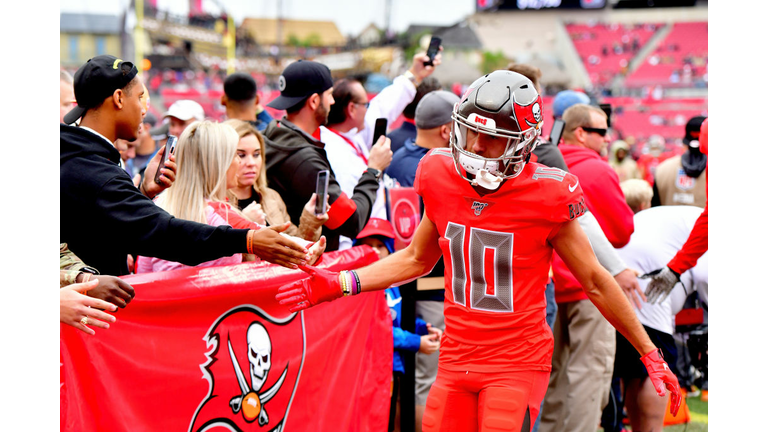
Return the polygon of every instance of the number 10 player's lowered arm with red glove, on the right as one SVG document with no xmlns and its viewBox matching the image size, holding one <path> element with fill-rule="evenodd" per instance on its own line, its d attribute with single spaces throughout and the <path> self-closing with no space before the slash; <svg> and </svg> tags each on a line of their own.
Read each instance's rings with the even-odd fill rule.
<svg viewBox="0 0 768 432">
<path fill-rule="evenodd" d="M 672 413 L 676 415 L 681 401 L 677 378 L 670 372 L 661 352 L 651 342 L 619 285 L 597 262 L 587 236 L 578 222 L 565 222 L 548 240 L 581 283 L 589 300 L 642 355 L 641 360 L 648 369 L 657 394 L 664 396 L 664 388 L 669 389 L 672 395 Z"/>
</svg>

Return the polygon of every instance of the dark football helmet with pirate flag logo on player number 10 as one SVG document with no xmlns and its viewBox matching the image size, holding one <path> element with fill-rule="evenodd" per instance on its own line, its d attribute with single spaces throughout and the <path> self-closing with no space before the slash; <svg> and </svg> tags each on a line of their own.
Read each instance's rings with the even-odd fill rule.
<svg viewBox="0 0 768 432">
<path fill-rule="evenodd" d="M 491 190 L 504 179 L 517 177 L 541 135 L 541 108 L 541 96 L 533 83 L 519 73 L 500 70 L 473 82 L 453 108 L 451 152 L 459 175 Z M 498 158 L 485 158 L 469 151 L 470 129 L 505 138 L 504 153 Z"/>
</svg>

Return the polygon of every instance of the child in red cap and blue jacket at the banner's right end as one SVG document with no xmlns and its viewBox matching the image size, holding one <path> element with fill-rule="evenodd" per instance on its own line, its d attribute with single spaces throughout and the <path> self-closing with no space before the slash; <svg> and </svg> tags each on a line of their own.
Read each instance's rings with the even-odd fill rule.
<svg viewBox="0 0 768 432">
<path fill-rule="evenodd" d="M 392 224 L 385 219 L 371 218 L 368 224 L 360 231 L 355 245 L 371 246 L 383 259 L 395 251 L 395 231 Z M 392 342 L 394 353 L 392 356 L 392 398 L 389 410 L 389 431 L 394 430 L 396 423 L 397 399 L 400 394 L 400 380 L 405 374 L 403 366 L 403 351 L 420 352 L 426 355 L 434 354 L 440 346 L 443 331 L 421 318 L 416 318 L 416 333 L 405 331 L 400 327 L 400 312 L 402 309 L 402 297 L 399 287 L 390 287 L 386 291 L 387 306 L 392 315 Z"/>
</svg>

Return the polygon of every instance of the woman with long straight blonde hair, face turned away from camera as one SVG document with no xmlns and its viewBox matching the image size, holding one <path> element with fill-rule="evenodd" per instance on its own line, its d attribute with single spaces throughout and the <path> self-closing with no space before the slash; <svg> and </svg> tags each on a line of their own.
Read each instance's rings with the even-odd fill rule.
<svg viewBox="0 0 768 432">
<path fill-rule="evenodd" d="M 212 226 L 245 228 L 244 218 L 227 202 L 227 189 L 237 185 L 240 160 L 237 157 L 237 132 L 229 126 L 201 121 L 189 125 L 176 145 L 176 181 L 156 199 L 156 204 L 173 216 Z M 247 228 L 263 228 L 249 224 Z M 303 246 L 307 242 L 299 241 Z M 325 250 L 325 239 L 311 249 L 311 262 Z M 242 254 L 207 261 L 197 267 L 237 264 Z M 184 264 L 159 258 L 139 257 L 136 273 L 176 270 Z"/>
</svg>

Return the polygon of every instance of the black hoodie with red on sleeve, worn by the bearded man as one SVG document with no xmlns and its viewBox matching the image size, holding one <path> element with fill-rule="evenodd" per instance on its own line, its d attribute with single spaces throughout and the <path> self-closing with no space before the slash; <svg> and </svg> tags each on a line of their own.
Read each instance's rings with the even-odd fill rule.
<svg viewBox="0 0 768 432">
<path fill-rule="evenodd" d="M 317 185 L 317 173 L 328 170 L 328 203 L 331 218 L 323 226 L 323 235 L 328 241 L 326 250 L 339 249 L 339 236 L 354 239 L 363 230 L 371 217 L 371 208 L 376 200 L 379 182 L 369 171 L 363 173 L 351 197 L 342 199 L 339 183 L 336 182 L 331 163 L 325 153 L 325 145 L 299 129 L 293 123 L 273 120 L 264 131 L 267 160 L 267 181 L 285 201 L 291 222 L 298 226 L 304 205 L 312 197 Z M 337 209 L 333 210 L 333 205 Z M 335 222 L 335 223 L 334 223 Z M 328 226 L 340 224 L 335 229 Z"/>
</svg>

